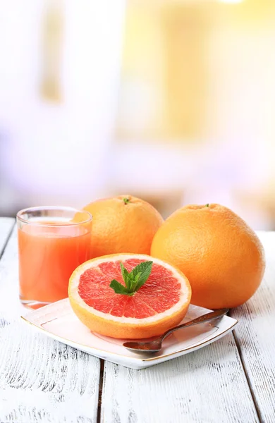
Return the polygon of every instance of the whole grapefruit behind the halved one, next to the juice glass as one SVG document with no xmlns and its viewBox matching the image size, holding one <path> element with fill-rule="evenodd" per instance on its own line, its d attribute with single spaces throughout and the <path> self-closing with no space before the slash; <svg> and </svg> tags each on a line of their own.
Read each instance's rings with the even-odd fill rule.
<svg viewBox="0 0 275 423">
<path fill-rule="evenodd" d="M 163 222 L 151 204 L 131 195 L 97 200 L 84 209 L 93 217 L 91 258 L 118 252 L 149 254 Z"/>
</svg>

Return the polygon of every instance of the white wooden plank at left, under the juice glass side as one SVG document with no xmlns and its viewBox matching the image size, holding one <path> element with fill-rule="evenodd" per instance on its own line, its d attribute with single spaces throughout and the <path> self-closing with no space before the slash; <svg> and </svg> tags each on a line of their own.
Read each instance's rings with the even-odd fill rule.
<svg viewBox="0 0 275 423">
<path fill-rule="evenodd" d="M 0 261 L 0 422 L 95 423 L 100 362 L 18 319 L 16 228 Z"/>
</svg>

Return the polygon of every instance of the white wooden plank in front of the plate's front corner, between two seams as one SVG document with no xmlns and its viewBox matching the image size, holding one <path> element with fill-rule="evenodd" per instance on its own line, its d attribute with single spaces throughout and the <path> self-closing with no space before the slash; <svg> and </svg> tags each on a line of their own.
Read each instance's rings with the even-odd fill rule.
<svg viewBox="0 0 275 423">
<path fill-rule="evenodd" d="M 106 362 L 101 417 L 102 423 L 259 421 L 232 333 L 148 369 Z"/>
</svg>

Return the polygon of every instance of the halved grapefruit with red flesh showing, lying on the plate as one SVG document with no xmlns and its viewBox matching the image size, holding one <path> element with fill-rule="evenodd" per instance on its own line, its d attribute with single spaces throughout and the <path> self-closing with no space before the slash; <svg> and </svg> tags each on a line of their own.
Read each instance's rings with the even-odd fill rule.
<svg viewBox="0 0 275 423">
<path fill-rule="evenodd" d="M 147 281 L 135 293 L 122 295 L 121 266 L 128 272 L 151 261 Z M 127 273 L 126 271 L 126 273 Z M 149 338 L 176 326 L 185 316 L 191 289 L 181 271 L 147 255 L 118 254 L 88 260 L 73 272 L 68 296 L 73 311 L 91 331 L 113 338 Z"/>
</svg>

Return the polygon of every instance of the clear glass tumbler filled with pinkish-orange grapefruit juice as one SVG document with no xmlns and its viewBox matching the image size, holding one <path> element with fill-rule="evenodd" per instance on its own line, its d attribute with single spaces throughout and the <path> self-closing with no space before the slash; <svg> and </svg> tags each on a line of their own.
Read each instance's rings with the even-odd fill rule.
<svg viewBox="0 0 275 423">
<path fill-rule="evenodd" d="M 39 308 L 68 297 L 68 281 L 90 259 L 92 215 L 71 207 L 18 212 L 20 302 Z"/>
</svg>

